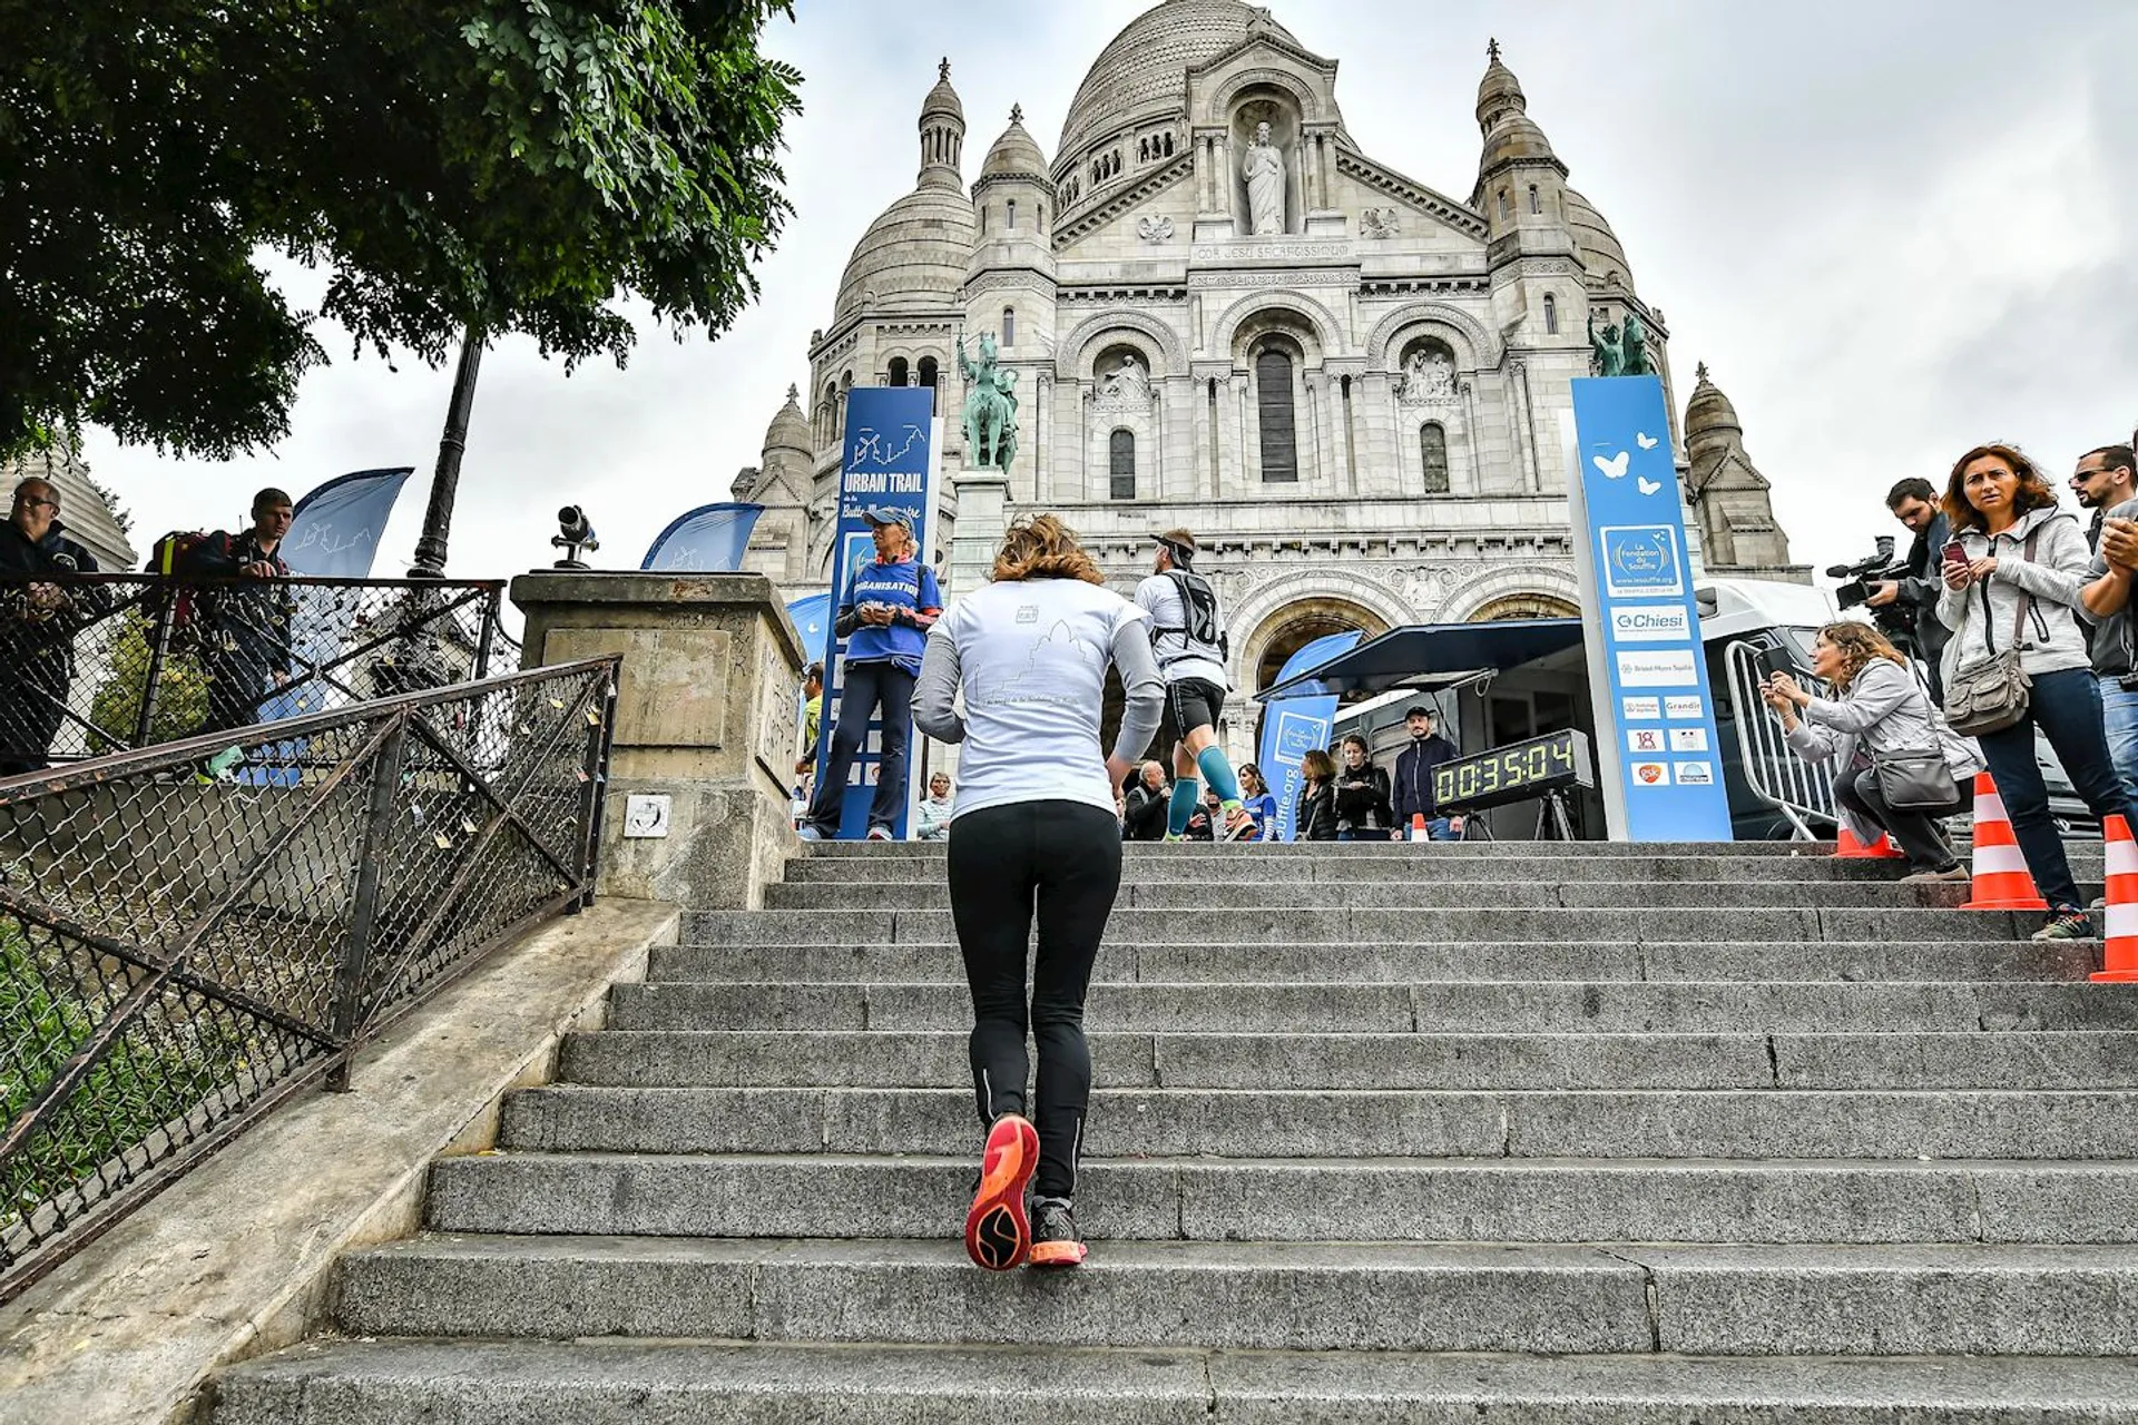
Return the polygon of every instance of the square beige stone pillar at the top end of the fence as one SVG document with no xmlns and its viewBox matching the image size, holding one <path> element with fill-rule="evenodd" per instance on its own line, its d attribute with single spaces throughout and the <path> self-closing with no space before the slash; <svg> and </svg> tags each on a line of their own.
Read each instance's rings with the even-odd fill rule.
<svg viewBox="0 0 2138 1425">
<path fill-rule="evenodd" d="M 797 842 L 795 709 L 808 654 L 763 575 L 537 570 L 511 585 L 526 667 L 622 654 L 599 895 L 757 910 Z M 665 837 L 622 835 L 633 793 Z"/>
</svg>

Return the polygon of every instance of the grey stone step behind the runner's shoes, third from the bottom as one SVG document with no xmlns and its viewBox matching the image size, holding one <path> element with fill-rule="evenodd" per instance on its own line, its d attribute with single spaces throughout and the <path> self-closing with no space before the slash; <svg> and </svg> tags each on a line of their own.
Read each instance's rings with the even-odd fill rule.
<svg viewBox="0 0 2138 1425">
<path fill-rule="evenodd" d="M 840 1154 L 440 1158 L 440 1233 L 943 1237 L 975 1160 Z M 2138 1241 L 2138 1162 L 1088 1158 L 1107 1241 Z"/>
</svg>

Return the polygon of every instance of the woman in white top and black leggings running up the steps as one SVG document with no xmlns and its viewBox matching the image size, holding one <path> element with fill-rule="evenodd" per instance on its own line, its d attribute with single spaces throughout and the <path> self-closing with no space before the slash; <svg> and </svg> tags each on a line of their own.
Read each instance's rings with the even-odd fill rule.
<svg viewBox="0 0 2138 1425">
<path fill-rule="evenodd" d="M 1090 1105 L 1084 993 L 1120 891 L 1114 790 L 1150 746 L 1165 701 L 1148 626 L 1060 519 L 1028 515 L 1003 534 L 992 581 L 928 635 L 913 709 L 924 733 L 964 746 L 949 906 L 973 991 L 973 1098 L 988 1132 L 964 1250 L 994 1271 L 1084 1260 L 1073 1216 Z M 1120 671 L 1127 707 L 1112 756 L 1101 756 L 1107 664 Z M 1039 1049 L 1031 1117 L 1026 1032 Z"/>
</svg>

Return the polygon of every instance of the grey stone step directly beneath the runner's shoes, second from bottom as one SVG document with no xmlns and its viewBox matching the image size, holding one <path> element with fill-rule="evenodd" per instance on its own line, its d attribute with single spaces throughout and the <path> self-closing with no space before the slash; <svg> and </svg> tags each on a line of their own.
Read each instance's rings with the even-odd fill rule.
<svg viewBox="0 0 2138 1425">
<path fill-rule="evenodd" d="M 1238 1350 L 2138 1352 L 2129 1246 L 1110 1241 L 1078 1273 L 956 1239 L 417 1237 L 344 1258 L 351 1335 Z"/>
</svg>

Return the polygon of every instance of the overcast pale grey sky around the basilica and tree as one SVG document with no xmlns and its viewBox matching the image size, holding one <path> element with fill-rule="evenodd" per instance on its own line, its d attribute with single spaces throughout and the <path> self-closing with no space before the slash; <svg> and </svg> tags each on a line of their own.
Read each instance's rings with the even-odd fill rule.
<svg viewBox="0 0 2138 1425">
<path fill-rule="evenodd" d="M 554 558 L 586 504 L 599 566 L 637 568 L 680 511 L 725 500 L 832 318 L 870 218 L 913 186 L 915 120 L 939 56 L 964 100 L 966 177 L 1022 103 L 1054 156 L 1069 98 L 1146 0 L 902 6 L 800 0 L 765 45 L 806 75 L 789 128 L 795 218 L 763 299 L 727 335 L 641 327 L 629 370 L 573 376 L 526 340 L 483 363 L 451 573 Z M 1943 481 L 1986 438 L 2059 479 L 2138 423 L 2138 4 L 2132 0 L 1293 0 L 1274 15 L 1341 62 L 1362 150 L 1467 199 L 1486 38 L 1497 34 L 1580 188 L 1612 222 L 1672 331 L 1680 400 L 1706 361 L 1745 419 L 1800 562 L 1892 532 L 1886 487 Z M 308 273 L 276 267 L 299 303 Z M 293 434 L 235 461 L 88 440 L 148 545 L 244 519 L 250 491 L 370 466 L 417 479 L 378 575 L 415 549 L 451 365 L 351 357 L 314 372 Z M 173 353 L 175 361 L 184 353 Z"/>
</svg>

